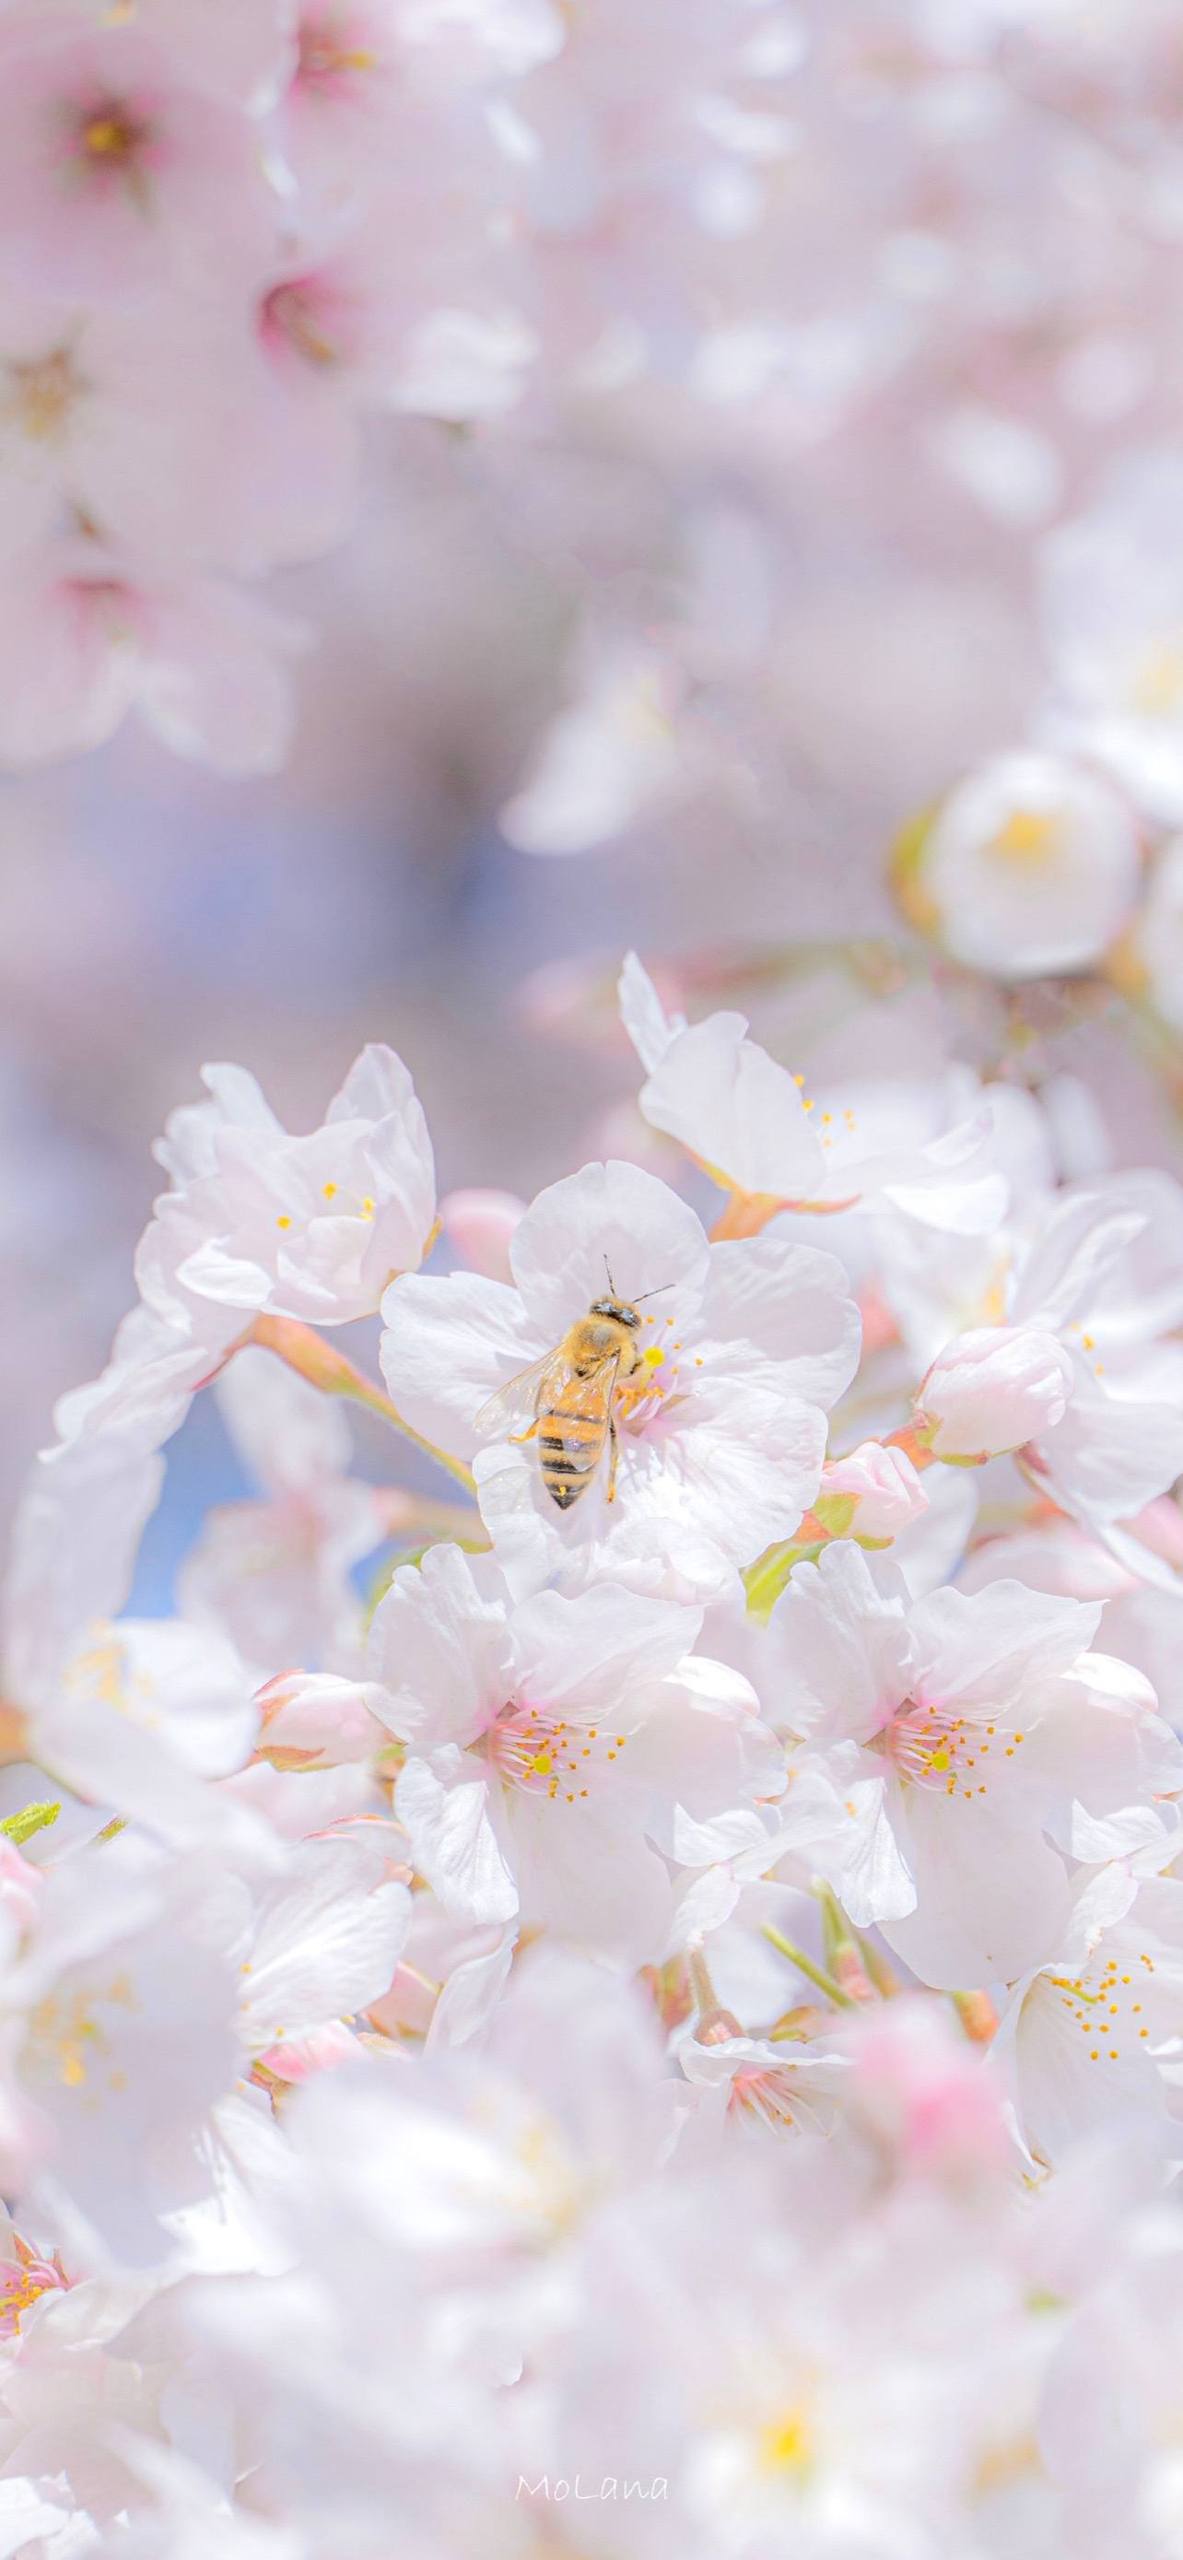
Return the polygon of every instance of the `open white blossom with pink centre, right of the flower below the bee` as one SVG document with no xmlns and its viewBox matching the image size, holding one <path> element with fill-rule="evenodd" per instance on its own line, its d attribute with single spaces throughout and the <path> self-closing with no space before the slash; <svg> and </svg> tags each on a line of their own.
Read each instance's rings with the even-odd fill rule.
<svg viewBox="0 0 1183 2560">
<path fill-rule="evenodd" d="M 1091 1654 L 1098 1610 L 1017 1582 L 909 1608 L 855 1546 L 776 1605 L 766 1713 L 827 1754 L 830 1869 L 922 1981 L 1014 1981 L 1068 1925 L 1070 1861 L 1165 1843 L 1183 1756 L 1150 1687 Z"/>
</svg>

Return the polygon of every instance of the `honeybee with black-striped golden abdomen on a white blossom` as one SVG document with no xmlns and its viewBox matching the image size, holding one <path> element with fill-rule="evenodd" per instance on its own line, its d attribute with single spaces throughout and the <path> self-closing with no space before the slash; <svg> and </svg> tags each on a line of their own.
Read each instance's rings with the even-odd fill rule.
<svg viewBox="0 0 1183 2560">
<path fill-rule="evenodd" d="M 607 1262 L 604 1262 L 607 1270 Z M 609 1295 L 594 1298 L 586 1316 L 563 1334 L 556 1352 L 543 1352 L 530 1370 L 489 1398 L 476 1416 L 476 1428 L 515 1421 L 522 1405 L 533 1418 L 525 1431 L 512 1431 L 515 1441 L 538 1441 L 538 1469 L 558 1510 L 571 1510 L 586 1492 L 604 1446 L 607 1500 L 617 1498 L 617 1416 L 620 1388 L 645 1367 L 638 1347 L 643 1298 L 620 1298 L 607 1272 Z"/>
</svg>

